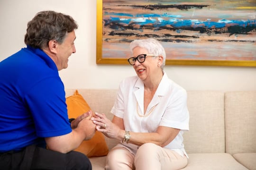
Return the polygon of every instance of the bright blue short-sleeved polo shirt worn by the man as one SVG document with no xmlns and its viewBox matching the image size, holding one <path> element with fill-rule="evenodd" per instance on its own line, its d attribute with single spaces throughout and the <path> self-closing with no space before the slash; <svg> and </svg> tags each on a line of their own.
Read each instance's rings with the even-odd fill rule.
<svg viewBox="0 0 256 170">
<path fill-rule="evenodd" d="M 72 131 L 54 61 L 27 46 L 0 62 L 0 153 Z"/>
</svg>

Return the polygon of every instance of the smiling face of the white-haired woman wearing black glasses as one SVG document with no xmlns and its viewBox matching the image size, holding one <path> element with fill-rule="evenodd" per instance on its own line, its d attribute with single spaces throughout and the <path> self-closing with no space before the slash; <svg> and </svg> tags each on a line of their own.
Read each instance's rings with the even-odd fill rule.
<svg viewBox="0 0 256 170">
<path fill-rule="evenodd" d="M 137 57 L 140 54 L 149 54 L 148 51 L 141 47 L 135 47 L 133 49 L 133 57 Z M 134 70 L 136 71 L 137 76 L 141 80 L 146 80 L 147 78 L 150 78 L 154 73 L 156 73 L 156 69 L 159 69 L 157 67 L 158 60 L 155 57 L 152 56 L 146 56 L 146 59 L 144 62 L 140 63 L 136 60 L 135 65 L 133 65 Z"/>
</svg>

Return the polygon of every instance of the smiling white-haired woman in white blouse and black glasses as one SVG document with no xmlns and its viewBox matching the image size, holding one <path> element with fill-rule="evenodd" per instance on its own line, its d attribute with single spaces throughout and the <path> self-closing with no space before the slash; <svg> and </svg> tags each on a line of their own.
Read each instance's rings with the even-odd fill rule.
<svg viewBox="0 0 256 170">
<path fill-rule="evenodd" d="M 155 39 L 130 43 L 128 59 L 137 76 L 119 85 L 111 110 L 92 118 L 98 131 L 118 139 L 107 156 L 106 170 L 178 170 L 187 165 L 183 131 L 189 130 L 186 91 L 163 71 L 165 50 Z"/>
</svg>

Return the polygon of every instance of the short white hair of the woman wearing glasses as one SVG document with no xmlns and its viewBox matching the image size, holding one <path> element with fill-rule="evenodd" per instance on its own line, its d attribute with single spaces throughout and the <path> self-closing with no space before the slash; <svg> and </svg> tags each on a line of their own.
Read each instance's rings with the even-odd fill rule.
<svg viewBox="0 0 256 170">
<path fill-rule="evenodd" d="M 161 68 L 164 68 L 166 54 L 164 47 L 159 41 L 155 40 L 154 38 L 134 40 L 130 43 L 131 53 L 133 49 L 137 46 L 146 49 L 149 54 L 153 54 L 155 56 L 163 56 L 163 63 L 161 65 Z"/>
</svg>

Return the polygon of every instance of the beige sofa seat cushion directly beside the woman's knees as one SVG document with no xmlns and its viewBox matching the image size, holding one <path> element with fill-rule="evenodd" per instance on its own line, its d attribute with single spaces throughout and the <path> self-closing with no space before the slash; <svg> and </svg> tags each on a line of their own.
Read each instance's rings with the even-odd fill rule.
<svg viewBox="0 0 256 170">
<path fill-rule="evenodd" d="M 248 170 L 229 153 L 190 153 L 182 170 Z"/>
</svg>

